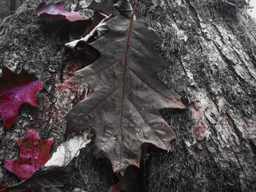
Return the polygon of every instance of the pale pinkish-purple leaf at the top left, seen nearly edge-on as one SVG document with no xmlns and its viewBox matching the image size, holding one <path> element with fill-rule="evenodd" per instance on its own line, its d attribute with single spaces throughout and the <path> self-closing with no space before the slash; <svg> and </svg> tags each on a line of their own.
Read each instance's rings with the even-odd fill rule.
<svg viewBox="0 0 256 192">
<path fill-rule="evenodd" d="M 47 4 L 43 2 L 37 7 L 37 15 L 39 18 L 59 18 L 71 22 L 76 20 L 88 20 L 88 18 L 83 18 L 80 12 L 68 12 L 64 8 L 64 2 L 59 2 L 52 6 L 47 6 Z"/>
</svg>

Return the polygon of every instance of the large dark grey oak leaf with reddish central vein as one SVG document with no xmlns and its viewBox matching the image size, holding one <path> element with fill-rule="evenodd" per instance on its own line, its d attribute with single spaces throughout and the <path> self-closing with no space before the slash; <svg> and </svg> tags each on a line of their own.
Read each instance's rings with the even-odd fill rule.
<svg viewBox="0 0 256 192">
<path fill-rule="evenodd" d="M 157 77 L 167 62 L 154 52 L 159 37 L 146 22 L 117 15 L 107 25 L 108 33 L 90 44 L 99 59 L 70 79 L 91 88 L 91 94 L 67 114 L 67 133 L 93 127 L 94 155 L 109 158 L 113 171 L 123 174 L 127 166 L 139 165 L 143 144 L 170 150 L 176 136 L 159 109 L 184 104 Z"/>
</svg>

